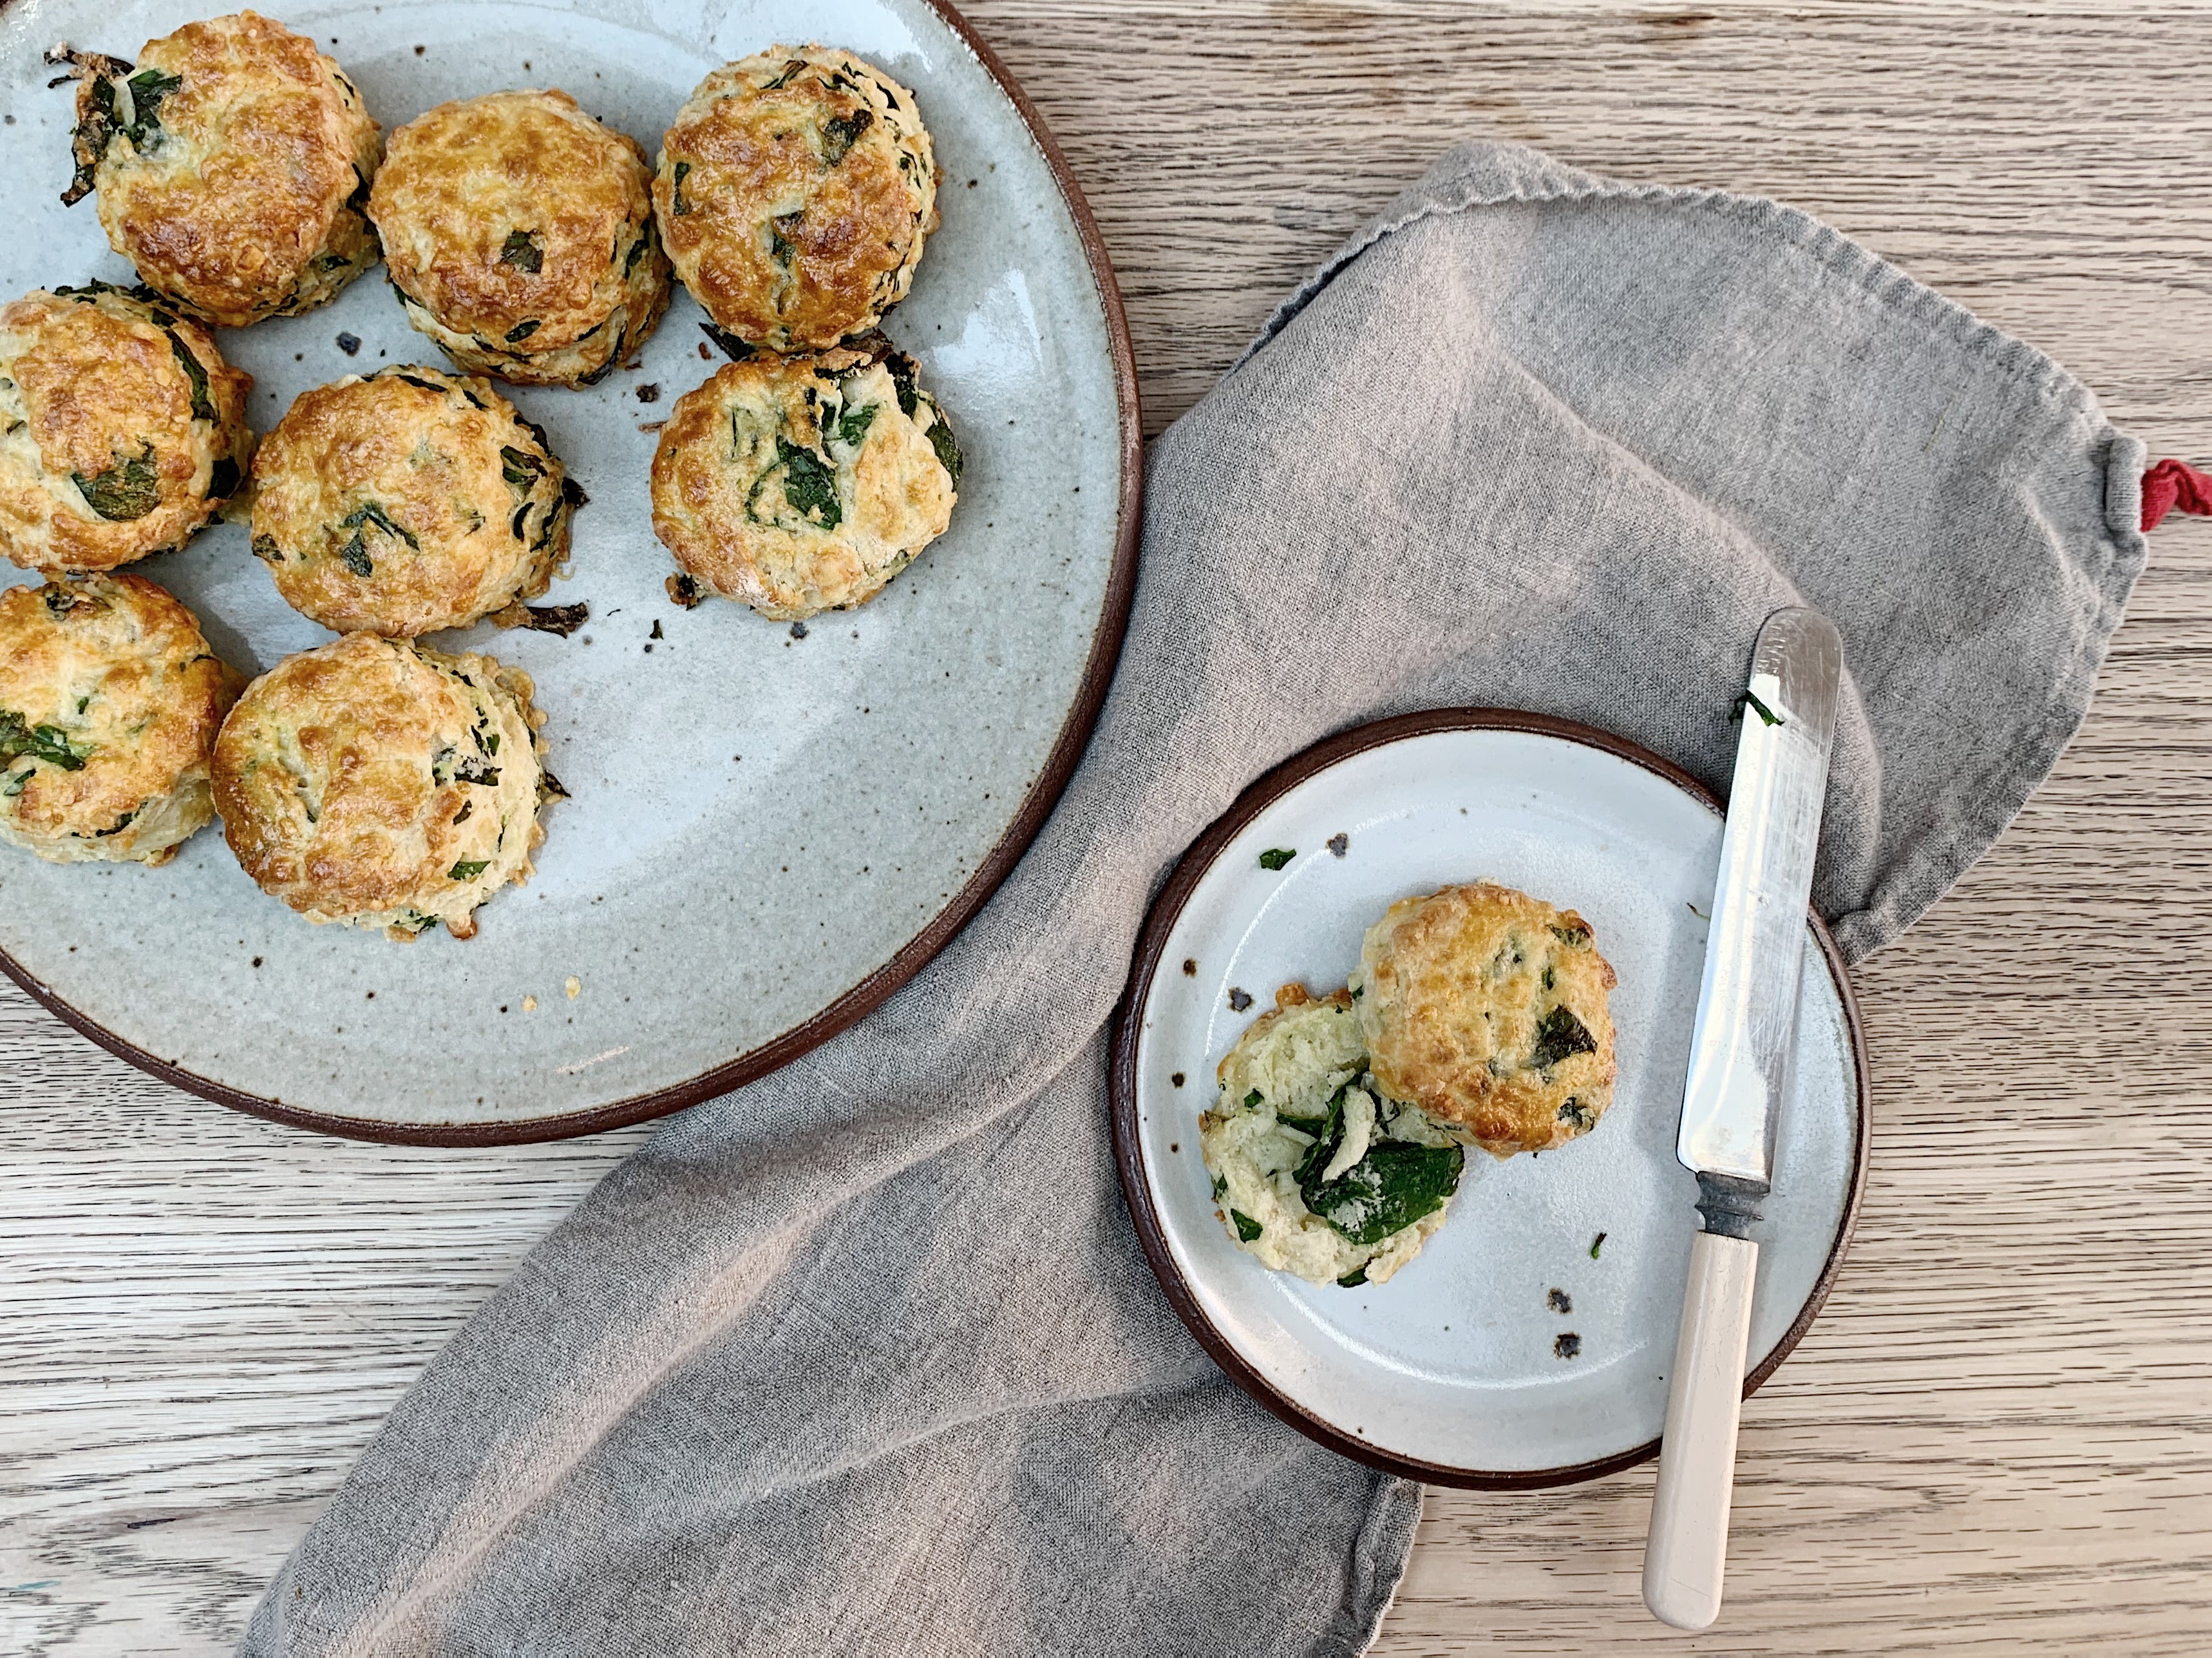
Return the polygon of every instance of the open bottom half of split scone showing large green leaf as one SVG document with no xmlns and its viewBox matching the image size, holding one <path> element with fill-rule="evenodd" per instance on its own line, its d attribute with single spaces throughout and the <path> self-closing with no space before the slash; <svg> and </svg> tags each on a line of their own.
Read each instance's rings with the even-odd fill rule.
<svg viewBox="0 0 2212 1658">
<path fill-rule="evenodd" d="M 1349 992 L 1283 985 L 1221 1060 L 1199 1151 L 1237 1248 L 1312 1284 L 1383 1284 L 1444 1224 L 1467 1153 L 1380 1096 Z"/>
</svg>

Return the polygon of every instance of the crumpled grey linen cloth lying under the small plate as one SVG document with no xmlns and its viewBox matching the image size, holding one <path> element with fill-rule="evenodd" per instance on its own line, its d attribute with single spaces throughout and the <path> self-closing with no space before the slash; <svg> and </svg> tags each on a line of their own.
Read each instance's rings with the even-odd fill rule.
<svg viewBox="0 0 2212 1658">
<path fill-rule="evenodd" d="M 606 1178 L 246 1651 L 1363 1649 L 1418 1488 L 1223 1379 L 1115 1189 L 1104 1025 L 1177 854 L 1314 739 L 1436 704 L 1725 788 L 1759 622 L 1814 604 L 1849 653 L 1816 901 L 1865 956 L 2075 730 L 2141 465 L 2064 370 L 1801 213 L 1453 151 L 1155 445 L 1119 677 L 998 897 Z"/>
</svg>

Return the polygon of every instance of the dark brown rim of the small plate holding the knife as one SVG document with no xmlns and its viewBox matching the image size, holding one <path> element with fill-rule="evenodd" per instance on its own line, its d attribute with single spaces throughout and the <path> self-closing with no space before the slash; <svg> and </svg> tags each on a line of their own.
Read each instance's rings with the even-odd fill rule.
<svg viewBox="0 0 2212 1658">
<path fill-rule="evenodd" d="M 1526 730 L 1537 737 L 1559 737 L 1564 742 L 1582 744 L 1584 748 L 1599 748 L 1608 755 L 1617 755 L 1648 773 L 1663 777 L 1679 790 L 1690 795 L 1714 812 L 1725 812 L 1721 797 L 1697 781 L 1690 773 L 1672 761 L 1659 759 L 1659 755 L 1648 748 L 1639 748 L 1626 737 L 1615 737 L 1613 733 L 1597 730 L 1595 726 L 1584 726 L 1575 719 L 1555 719 L 1540 713 L 1520 713 L 1513 708 L 1427 708 L 1422 713 L 1396 715 L 1391 719 L 1376 719 L 1369 726 L 1354 726 L 1352 730 L 1338 733 L 1336 737 L 1325 737 L 1301 755 L 1292 755 L 1272 773 L 1245 788 L 1237 801 L 1212 821 L 1212 826 L 1190 843 L 1190 850 L 1175 866 L 1175 874 L 1152 899 L 1152 908 L 1144 919 L 1144 932 L 1137 934 L 1137 954 L 1130 961 L 1128 987 L 1121 992 L 1121 1003 L 1115 1007 L 1113 1016 L 1113 1051 L 1106 1065 L 1106 1100 L 1113 1116 L 1113 1149 L 1115 1169 L 1121 1175 L 1121 1198 L 1128 1204 L 1130 1220 L 1137 1226 L 1137 1242 L 1144 1244 L 1144 1257 L 1152 1264 L 1152 1275 L 1159 1286 L 1168 1293 L 1168 1302 L 1175 1306 L 1177 1317 L 1183 1326 L 1199 1339 L 1199 1346 L 1212 1355 L 1228 1375 L 1252 1395 L 1259 1403 L 1267 1406 L 1276 1417 L 1287 1421 L 1307 1439 L 1316 1439 L 1334 1452 L 1352 1457 L 1354 1461 L 1367 1463 L 1369 1468 L 1380 1468 L 1385 1474 L 1400 1474 L 1405 1479 L 1422 1479 L 1431 1485 L 1462 1485 L 1478 1492 L 1520 1492 L 1542 1485 L 1577 1485 L 1586 1479 L 1599 1479 L 1604 1474 L 1617 1474 L 1624 1468 L 1635 1468 L 1641 1461 L 1650 1461 L 1659 1454 L 1659 1441 L 1624 1450 L 1615 1457 L 1599 1457 L 1588 1463 L 1573 1463 L 1568 1468 L 1533 1468 L 1533 1470 L 1480 1470 L 1480 1468 L 1451 1468 L 1447 1463 L 1427 1463 L 1418 1457 L 1398 1457 L 1387 1450 L 1369 1445 L 1365 1439 L 1356 1439 L 1334 1423 L 1323 1421 L 1312 1415 L 1290 1397 L 1276 1392 L 1276 1388 L 1259 1375 L 1243 1355 L 1237 1353 L 1223 1339 L 1221 1330 L 1214 1328 L 1212 1319 L 1206 1317 L 1197 1297 L 1190 1293 L 1190 1284 L 1183 1279 L 1181 1268 L 1168 1255 L 1168 1240 L 1159 1229 L 1159 1211 L 1152 1206 L 1152 1191 L 1144 1178 L 1144 1158 L 1137 1149 L 1137 1049 L 1139 1049 L 1139 1027 L 1144 1023 L 1144 1003 L 1152 992 L 1152 974 L 1159 970 L 1161 952 L 1168 947 L 1168 934 L 1175 930 L 1177 916 L 1181 916 L 1183 905 L 1197 890 L 1199 881 L 1221 857 L 1223 848 L 1250 823 L 1259 812 L 1287 795 L 1292 788 L 1303 784 L 1340 759 L 1360 755 L 1369 748 L 1380 748 L 1383 744 L 1398 742 L 1400 737 L 1422 737 L 1433 730 Z M 1851 1078 L 1858 1096 L 1858 1156 L 1851 1162 L 1851 1186 L 1843 1200 L 1843 1224 L 1836 1229 L 1836 1244 L 1827 1253 L 1827 1264 L 1820 1268 L 1820 1277 L 1812 1286 L 1812 1295 L 1805 1297 L 1803 1310 L 1783 1330 L 1783 1339 L 1774 1344 L 1770 1353 L 1752 1375 L 1743 1379 L 1743 1397 L 1750 1399 L 1759 1392 L 1776 1366 L 1790 1357 L 1805 1330 L 1812 1328 L 1814 1317 L 1820 1313 L 1820 1304 L 1827 1299 L 1829 1286 L 1836 1282 L 1836 1273 L 1843 1268 L 1843 1255 L 1851 1244 L 1851 1229 L 1858 1224 L 1858 1198 L 1867 1184 L 1867 1038 L 1858 1025 L 1858 1001 L 1851 996 L 1851 978 L 1845 972 L 1843 954 L 1836 950 L 1836 941 L 1827 932 L 1827 923 L 1814 910 L 1805 912 L 1805 921 L 1812 928 L 1814 939 L 1820 943 L 1820 954 L 1827 961 L 1827 972 L 1836 981 L 1836 996 L 1843 1001 L 1843 1018 L 1851 1034 Z"/>
</svg>

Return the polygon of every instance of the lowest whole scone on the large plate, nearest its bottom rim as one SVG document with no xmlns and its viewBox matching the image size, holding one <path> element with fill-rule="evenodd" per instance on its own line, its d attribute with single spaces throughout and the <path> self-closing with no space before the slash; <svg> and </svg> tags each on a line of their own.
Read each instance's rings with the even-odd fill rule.
<svg viewBox="0 0 2212 1658">
<path fill-rule="evenodd" d="M 374 633 L 285 657 L 215 739 L 223 839 L 310 921 L 469 939 L 476 905 L 531 874 L 560 792 L 531 691 L 487 655 Z"/>
</svg>

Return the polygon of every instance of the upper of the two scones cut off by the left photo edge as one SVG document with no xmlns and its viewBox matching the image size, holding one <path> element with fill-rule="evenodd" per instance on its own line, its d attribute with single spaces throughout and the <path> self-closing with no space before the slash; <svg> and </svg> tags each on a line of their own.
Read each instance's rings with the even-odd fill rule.
<svg viewBox="0 0 2212 1658">
<path fill-rule="evenodd" d="M 146 290 L 33 290 L 0 310 L 0 553 L 95 571 L 181 547 L 252 458 L 252 374 Z"/>
</svg>

